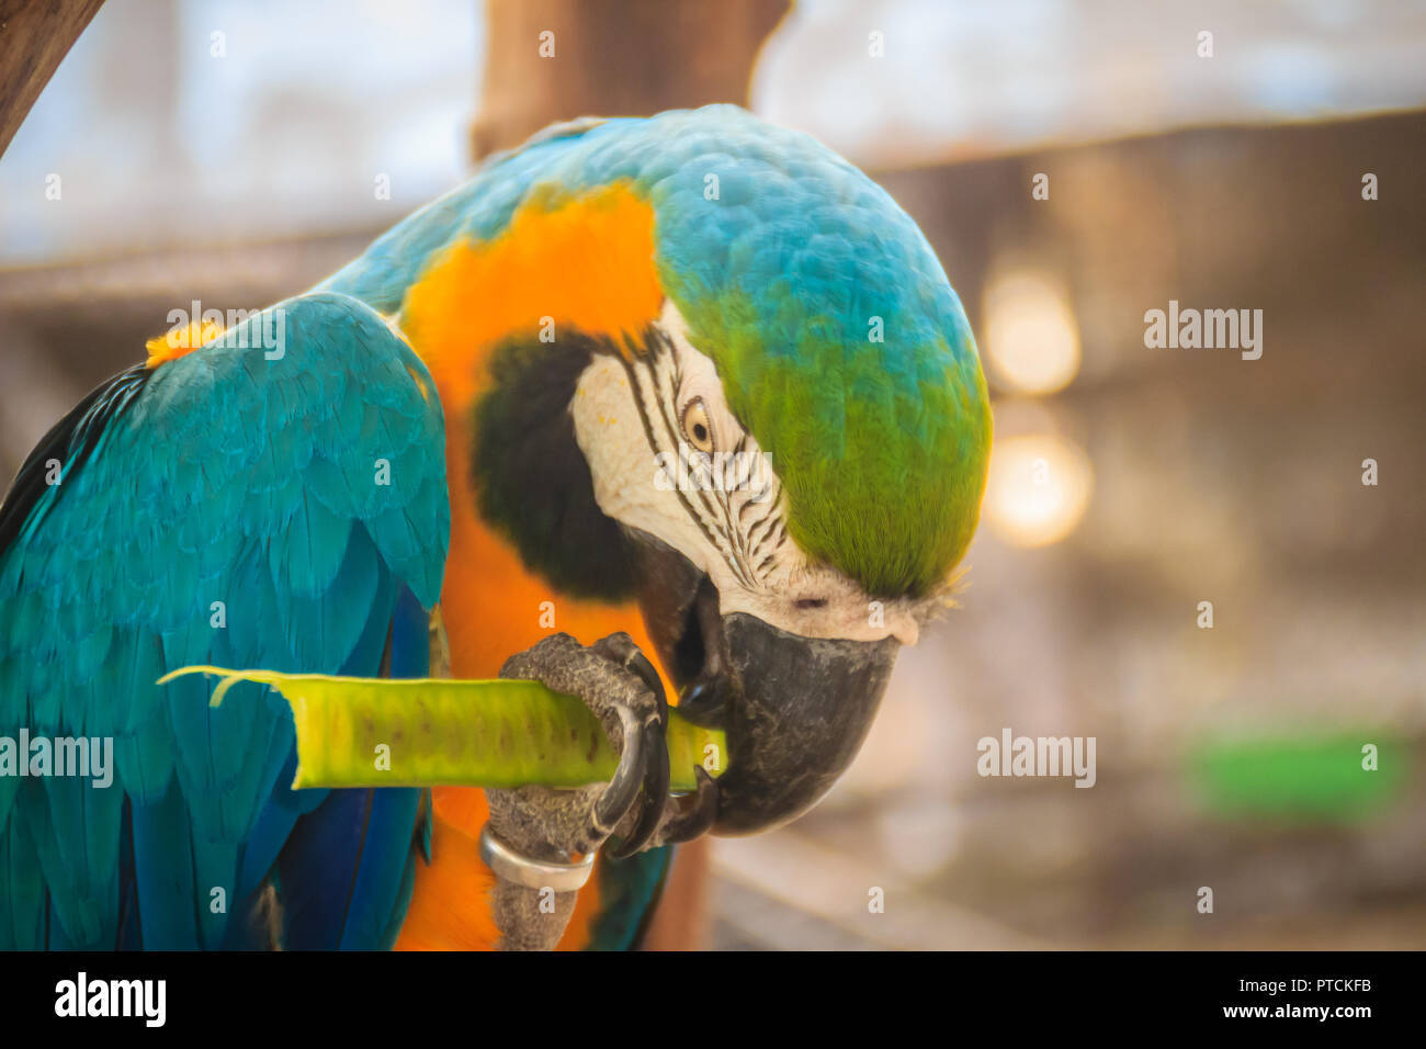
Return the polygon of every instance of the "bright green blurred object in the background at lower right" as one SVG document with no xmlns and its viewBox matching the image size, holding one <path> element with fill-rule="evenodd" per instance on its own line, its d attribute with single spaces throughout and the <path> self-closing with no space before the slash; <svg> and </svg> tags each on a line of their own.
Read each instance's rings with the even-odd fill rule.
<svg viewBox="0 0 1426 1049">
<path fill-rule="evenodd" d="M 1363 768 L 1376 748 L 1376 769 Z M 1212 739 L 1188 759 L 1206 808 L 1225 818 L 1355 822 L 1382 809 L 1406 782 L 1406 748 L 1373 732 Z"/>
</svg>

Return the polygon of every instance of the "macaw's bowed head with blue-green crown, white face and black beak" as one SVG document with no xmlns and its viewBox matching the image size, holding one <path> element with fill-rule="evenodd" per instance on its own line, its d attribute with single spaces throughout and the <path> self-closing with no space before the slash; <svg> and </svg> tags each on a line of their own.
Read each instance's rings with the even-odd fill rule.
<svg viewBox="0 0 1426 1049">
<path fill-rule="evenodd" d="M 846 769 L 944 607 L 985 381 L 917 225 L 813 138 L 709 107 L 576 141 L 502 161 L 538 176 L 452 284 L 528 314 L 475 408 L 481 511 L 566 591 L 637 597 L 680 711 L 727 732 L 714 829 L 752 832 Z"/>
</svg>

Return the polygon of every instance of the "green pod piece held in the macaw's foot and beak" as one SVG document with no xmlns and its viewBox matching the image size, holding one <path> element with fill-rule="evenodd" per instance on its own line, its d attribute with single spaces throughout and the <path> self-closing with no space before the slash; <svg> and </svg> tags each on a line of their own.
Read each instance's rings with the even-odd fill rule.
<svg viewBox="0 0 1426 1049">
<path fill-rule="evenodd" d="M 324 674 L 184 667 L 222 681 L 212 706 L 240 681 L 270 685 L 292 708 L 297 778 L 304 786 L 558 788 L 607 782 L 619 761 L 603 728 L 576 698 L 538 681 L 341 678 Z M 693 769 L 717 776 L 727 744 L 670 709 L 669 789 L 692 791 Z"/>
</svg>

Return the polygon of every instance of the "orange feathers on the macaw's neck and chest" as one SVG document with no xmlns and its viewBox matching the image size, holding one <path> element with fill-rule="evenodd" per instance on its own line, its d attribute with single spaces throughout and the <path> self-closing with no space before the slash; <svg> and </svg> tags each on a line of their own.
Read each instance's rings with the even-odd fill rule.
<svg viewBox="0 0 1426 1049">
<path fill-rule="evenodd" d="M 623 629 L 650 648 L 636 608 L 556 592 L 479 518 L 469 420 L 502 341 L 578 328 L 622 343 L 643 333 L 662 300 L 652 208 L 622 186 L 525 204 L 501 235 L 452 245 L 408 291 L 401 327 L 445 410 L 451 551 L 441 607 L 456 676 L 493 678 L 509 655 L 558 631 L 589 644 Z M 398 949 L 479 949 L 496 939 L 492 875 L 476 855 L 485 818 L 483 792 L 435 791 L 432 862 L 418 865 Z M 588 942 L 596 911 L 597 876 L 580 892 L 562 948 Z"/>
</svg>

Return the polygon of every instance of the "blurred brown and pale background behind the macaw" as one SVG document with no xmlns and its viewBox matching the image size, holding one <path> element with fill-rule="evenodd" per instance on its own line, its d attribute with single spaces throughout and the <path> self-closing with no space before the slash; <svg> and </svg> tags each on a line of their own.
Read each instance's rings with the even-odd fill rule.
<svg viewBox="0 0 1426 1049">
<path fill-rule="evenodd" d="M 0 474 L 174 304 L 707 101 L 921 224 L 997 448 L 961 607 L 823 805 L 713 843 L 706 942 L 1426 946 L 1422 3 L 111 3 L 0 160 Z M 1262 310 L 1261 360 L 1147 348 L 1169 300 Z M 1092 789 L 981 778 L 1005 728 L 1094 736 Z"/>
</svg>

